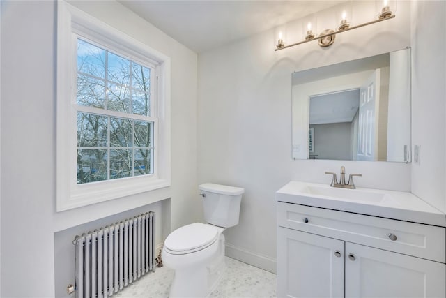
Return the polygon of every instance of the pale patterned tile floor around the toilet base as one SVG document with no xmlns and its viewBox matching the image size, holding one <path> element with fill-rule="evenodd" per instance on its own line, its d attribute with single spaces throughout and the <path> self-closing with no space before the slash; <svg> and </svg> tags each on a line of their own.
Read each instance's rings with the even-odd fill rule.
<svg viewBox="0 0 446 298">
<path fill-rule="evenodd" d="M 225 257 L 226 272 L 210 298 L 266 298 L 276 297 L 276 275 L 257 267 L 247 265 L 238 260 Z M 174 271 L 157 268 L 155 273 L 148 274 L 130 287 L 116 293 L 114 297 L 150 297 L 167 298 Z"/>
</svg>

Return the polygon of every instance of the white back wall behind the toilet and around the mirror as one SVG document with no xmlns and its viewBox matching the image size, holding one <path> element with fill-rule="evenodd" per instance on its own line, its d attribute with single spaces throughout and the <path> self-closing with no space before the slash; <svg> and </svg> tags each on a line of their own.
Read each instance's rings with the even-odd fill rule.
<svg viewBox="0 0 446 298">
<path fill-rule="evenodd" d="M 355 2 L 355 15 L 371 20 L 374 3 Z M 199 183 L 245 188 L 240 223 L 225 232 L 229 255 L 275 271 L 275 191 L 290 180 L 329 184 L 324 172 L 344 165 L 362 173 L 357 186 L 410 191 L 404 163 L 291 160 L 291 73 L 410 46 L 410 3 L 398 5 L 394 19 L 339 34 L 330 48 L 312 42 L 275 52 L 270 30 L 199 55 Z"/>
</svg>

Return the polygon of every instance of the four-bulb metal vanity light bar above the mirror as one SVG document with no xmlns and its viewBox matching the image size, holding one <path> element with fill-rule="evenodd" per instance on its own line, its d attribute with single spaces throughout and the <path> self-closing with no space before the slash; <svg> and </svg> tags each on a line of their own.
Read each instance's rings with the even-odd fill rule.
<svg viewBox="0 0 446 298">
<path fill-rule="evenodd" d="M 312 31 L 311 22 L 309 22 L 307 25 L 307 34 L 305 35 L 305 40 L 302 40 L 298 43 L 293 43 L 291 45 L 285 45 L 284 40 L 282 38 L 282 32 L 279 32 L 279 40 L 277 40 L 277 45 L 276 45 L 275 51 L 283 50 L 283 49 L 286 49 L 287 47 L 293 47 L 295 45 L 301 45 L 302 43 L 308 43 L 309 41 L 312 41 L 312 40 L 318 40 L 318 44 L 321 47 L 328 47 L 328 46 L 332 45 L 332 43 L 334 43 L 334 38 L 336 38 L 336 34 L 338 34 L 338 33 L 342 33 L 345 31 L 368 26 L 368 25 L 375 24 L 378 22 L 383 22 L 385 20 L 390 20 L 394 17 L 395 17 L 395 15 L 392 12 L 392 9 L 389 5 L 388 0 L 383 1 L 383 6 L 380 9 L 380 13 L 376 20 L 372 20 L 370 22 L 365 22 L 362 24 L 357 24 L 355 26 L 351 26 L 351 24 L 348 22 L 347 15 L 344 10 L 344 13 L 342 13 L 341 22 L 339 23 L 339 26 L 337 27 L 336 30 L 325 29 L 318 36 L 316 36 L 316 34 Z"/>
</svg>

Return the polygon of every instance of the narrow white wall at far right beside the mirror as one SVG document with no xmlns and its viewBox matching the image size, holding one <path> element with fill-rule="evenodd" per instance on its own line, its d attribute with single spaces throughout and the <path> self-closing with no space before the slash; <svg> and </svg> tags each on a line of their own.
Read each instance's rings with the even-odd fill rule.
<svg viewBox="0 0 446 298">
<path fill-rule="evenodd" d="M 412 7 L 412 137 L 421 145 L 412 192 L 446 212 L 446 2 L 414 1 Z"/>
</svg>

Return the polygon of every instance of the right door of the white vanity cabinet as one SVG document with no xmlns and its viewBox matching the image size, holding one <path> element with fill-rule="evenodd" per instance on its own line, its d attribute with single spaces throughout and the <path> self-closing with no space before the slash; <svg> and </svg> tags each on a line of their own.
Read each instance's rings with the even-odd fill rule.
<svg viewBox="0 0 446 298">
<path fill-rule="evenodd" d="M 352 256 L 353 255 L 353 256 Z M 445 297 L 446 265 L 346 242 L 346 297 Z"/>
</svg>

